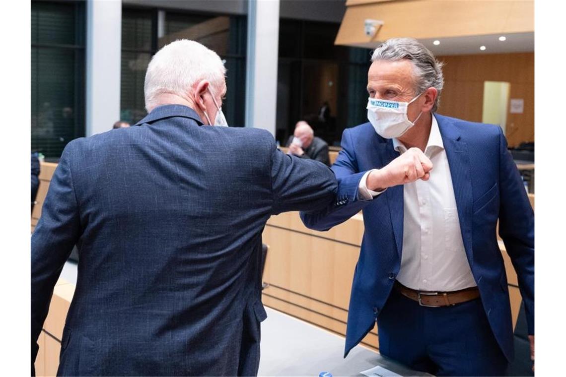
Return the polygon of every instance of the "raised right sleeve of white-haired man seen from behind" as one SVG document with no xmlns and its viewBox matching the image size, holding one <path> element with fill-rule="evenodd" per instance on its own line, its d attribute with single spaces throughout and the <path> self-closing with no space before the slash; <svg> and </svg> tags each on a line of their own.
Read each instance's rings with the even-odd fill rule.
<svg viewBox="0 0 566 377">
<path fill-rule="evenodd" d="M 271 137 L 271 135 L 270 135 Z M 272 214 L 314 210 L 336 197 L 336 177 L 329 167 L 285 154 L 270 142 Z"/>
</svg>

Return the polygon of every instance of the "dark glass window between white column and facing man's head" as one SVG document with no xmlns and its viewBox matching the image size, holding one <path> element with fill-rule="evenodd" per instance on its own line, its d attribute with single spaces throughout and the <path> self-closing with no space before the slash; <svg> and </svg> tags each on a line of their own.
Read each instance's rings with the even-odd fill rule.
<svg viewBox="0 0 566 377">
<path fill-rule="evenodd" d="M 340 24 L 281 19 L 276 139 L 285 145 L 306 120 L 329 145 L 344 128 L 367 122 L 370 50 L 335 46 Z"/>
</svg>

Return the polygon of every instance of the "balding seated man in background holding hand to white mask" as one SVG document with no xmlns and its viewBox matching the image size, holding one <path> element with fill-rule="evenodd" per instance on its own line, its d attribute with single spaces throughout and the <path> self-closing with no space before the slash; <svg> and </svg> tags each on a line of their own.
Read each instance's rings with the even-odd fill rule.
<svg viewBox="0 0 566 377">
<path fill-rule="evenodd" d="M 311 126 L 304 120 L 295 124 L 294 135 L 289 136 L 287 146 L 289 153 L 295 156 L 314 159 L 330 166 L 327 142 L 316 137 Z"/>
</svg>

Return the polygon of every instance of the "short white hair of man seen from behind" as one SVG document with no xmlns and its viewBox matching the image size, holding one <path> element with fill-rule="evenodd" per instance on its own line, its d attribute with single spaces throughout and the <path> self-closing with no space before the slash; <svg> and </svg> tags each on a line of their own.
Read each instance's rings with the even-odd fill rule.
<svg viewBox="0 0 566 377">
<path fill-rule="evenodd" d="M 226 68 L 215 51 L 199 42 L 178 40 L 157 51 L 145 72 L 145 110 L 157 105 L 160 94 L 186 97 L 200 80 L 208 80 L 216 95 L 224 90 Z"/>
</svg>

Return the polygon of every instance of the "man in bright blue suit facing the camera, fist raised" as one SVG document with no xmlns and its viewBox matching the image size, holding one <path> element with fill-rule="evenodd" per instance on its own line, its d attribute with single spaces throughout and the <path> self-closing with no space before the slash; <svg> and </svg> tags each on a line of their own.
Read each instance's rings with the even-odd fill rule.
<svg viewBox="0 0 566 377">
<path fill-rule="evenodd" d="M 346 204 L 301 216 L 325 231 L 363 211 L 345 355 L 377 321 L 380 352 L 414 369 L 504 375 L 513 329 L 496 225 L 517 272 L 534 360 L 534 214 L 501 128 L 436 114 L 442 87 L 441 64 L 418 41 L 378 47 L 370 122 L 344 131 L 332 166 L 349 185 Z M 415 149 L 430 158 L 428 180 L 383 184 L 388 163 Z"/>
</svg>

